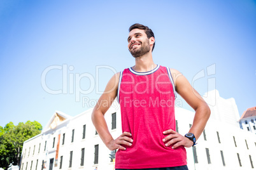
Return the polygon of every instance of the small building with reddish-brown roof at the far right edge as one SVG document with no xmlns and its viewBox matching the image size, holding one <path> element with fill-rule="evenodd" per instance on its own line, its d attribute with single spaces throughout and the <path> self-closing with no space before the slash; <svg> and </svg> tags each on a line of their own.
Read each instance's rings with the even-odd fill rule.
<svg viewBox="0 0 256 170">
<path fill-rule="evenodd" d="M 251 131 L 252 133 L 256 134 L 256 107 L 248 108 L 241 119 L 239 120 L 239 125 L 241 129 L 245 131 Z"/>
</svg>

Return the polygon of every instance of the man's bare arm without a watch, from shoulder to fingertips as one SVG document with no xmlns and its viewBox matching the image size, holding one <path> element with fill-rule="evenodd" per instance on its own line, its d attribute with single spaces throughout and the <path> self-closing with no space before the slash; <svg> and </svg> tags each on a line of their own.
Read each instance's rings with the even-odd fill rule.
<svg viewBox="0 0 256 170">
<path fill-rule="evenodd" d="M 103 95 L 101 95 L 98 102 L 96 103 L 96 106 L 94 107 L 94 110 L 92 111 L 92 122 L 96 128 L 96 131 L 101 137 L 101 140 L 103 140 L 103 143 L 110 150 L 115 150 L 117 148 L 125 150 L 125 147 L 122 147 L 121 145 L 123 144 L 131 146 L 130 142 L 132 142 L 131 138 L 127 137 L 131 136 L 131 133 L 127 132 L 124 132 L 121 134 L 121 136 L 114 140 L 110 134 L 110 131 L 108 131 L 108 126 L 104 118 L 104 114 L 106 114 L 106 111 L 108 108 L 110 108 L 113 100 L 115 100 L 115 97 L 117 96 L 118 80 L 119 73 L 111 77 Z"/>
</svg>

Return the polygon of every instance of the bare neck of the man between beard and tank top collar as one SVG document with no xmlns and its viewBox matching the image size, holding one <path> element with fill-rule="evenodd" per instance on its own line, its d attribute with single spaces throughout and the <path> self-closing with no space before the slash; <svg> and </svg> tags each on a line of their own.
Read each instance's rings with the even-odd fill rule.
<svg viewBox="0 0 256 170">
<path fill-rule="evenodd" d="M 135 58 L 135 65 L 132 67 L 136 72 L 148 72 L 155 69 L 157 65 L 153 62 L 152 52 Z"/>
</svg>

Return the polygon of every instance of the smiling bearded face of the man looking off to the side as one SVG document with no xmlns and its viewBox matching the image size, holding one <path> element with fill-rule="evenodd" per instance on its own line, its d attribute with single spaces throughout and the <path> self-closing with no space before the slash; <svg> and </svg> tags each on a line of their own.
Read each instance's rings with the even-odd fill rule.
<svg viewBox="0 0 256 170">
<path fill-rule="evenodd" d="M 145 55 L 150 51 L 150 43 L 148 37 L 146 37 L 145 30 L 131 30 L 127 41 L 128 49 L 134 58 Z"/>
</svg>

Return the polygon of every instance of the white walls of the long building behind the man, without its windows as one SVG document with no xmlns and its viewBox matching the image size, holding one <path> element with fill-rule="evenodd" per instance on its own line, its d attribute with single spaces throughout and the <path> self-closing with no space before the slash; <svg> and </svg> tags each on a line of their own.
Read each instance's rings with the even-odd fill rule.
<svg viewBox="0 0 256 170">
<path fill-rule="evenodd" d="M 213 93 L 214 92 L 214 93 Z M 212 94 L 216 94 L 214 98 L 211 98 Z M 218 91 L 211 91 L 208 93 L 208 100 L 216 100 L 214 106 L 211 108 L 211 117 L 206 125 L 206 139 L 204 140 L 203 134 L 197 140 L 196 151 L 198 163 L 194 164 L 194 156 L 192 148 L 187 148 L 187 162 L 188 169 L 252 169 L 250 164 L 249 155 L 252 156 L 253 166 L 256 166 L 256 135 L 243 131 L 239 128 L 238 120 L 238 108 L 234 99 L 224 99 L 218 95 Z M 117 129 L 111 130 L 111 114 L 117 112 Z M 178 130 L 180 134 L 188 132 L 194 118 L 194 112 L 185 110 L 183 108 L 176 107 L 176 120 L 178 121 Z M 22 164 L 25 165 L 28 162 L 27 169 L 31 167 L 31 160 L 33 161 L 32 169 L 36 168 L 36 160 L 38 159 L 38 169 L 41 169 L 42 160 L 47 160 L 47 168 L 51 158 L 55 158 L 55 151 L 57 147 L 57 135 L 60 133 L 60 147 L 59 147 L 59 161 L 58 166 L 53 169 L 59 169 L 60 156 L 63 156 L 62 169 L 94 169 L 96 166 L 99 170 L 112 170 L 114 163 L 110 162 L 109 154 L 110 150 L 106 148 L 103 141 L 99 138 L 99 135 L 95 134 L 95 128 L 91 121 L 92 109 L 83 112 L 76 117 L 62 122 L 57 128 L 45 131 L 43 134 L 31 138 L 24 142 L 22 150 L 22 156 L 24 150 L 27 152 L 31 147 L 31 153 L 28 156 L 26 152 L 25 157 L 22 159 Z M 121 117 L 120 110 L 117 107 L 111 107 L 105 115 L 106 122 L 108 124 L 110 133 L 113 138 L 117 138 L 122 134 L 121 129 Z M 86 136 L 82 139 L 83 125 L 86 124 Z M 74 142 L 71 143 L 72 129 L 75 129 Z M 220 136 L 220 143 L 217 138 L 217 131 Z M 65 143 L 62 145 L 62 134 L 65 133 Z M 233 136 L 236 138 L 236 145 L 234 145 Z M 53 137 L 55 137 L 55 147 L 52 148 Z M 47 140 L 46 151 L 44 151 L 45 140 Z M 248 143 L 246 147 L 245 140 Z M 38 154 L 39 143 L 41 143 L 40 152 Z M 32 151 L 36 145 L 35 154 L 32 155 Z M 94 145 L 99 145 L 99 164 L 94 164 Z M 85 148 L 85 162 L 84 166 L 80 166 L 81 161 L 81 149 Z M 211 164 L 208 164 L 206 157 L 206 148 L 209 148 Z M 225 166 L 222 164 L 222 157 L 220 150 L 224 153 Z M 72 167 L 69 168 L 69 153 L 73 151 Z M 238 156 L 240 155 L 242 167 L 239 166 Z M 22 167 L 21 164 L 21 167 Z"/>
</svg>

